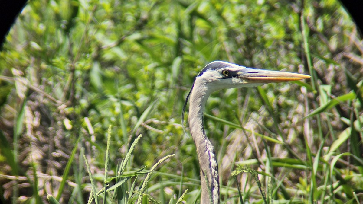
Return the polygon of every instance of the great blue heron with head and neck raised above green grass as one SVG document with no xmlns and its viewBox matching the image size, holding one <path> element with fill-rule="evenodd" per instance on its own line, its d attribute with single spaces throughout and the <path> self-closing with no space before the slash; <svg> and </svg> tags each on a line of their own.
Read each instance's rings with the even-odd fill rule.
<svg viewBox="0 0 363 204">
<path fill-rule="evenodd" d="M 203 111 L 212 92 L 225 88 L 253 87 L 271 82 L 290 82 L 310 78 L 309 75 L 291 72 L 248 68 L 228 62 L 215 61 L 207 64 L 195 78 L 185 100 L 184 111 L 190 97 L 189 129 L 197 147 L 200 165 L 201 202 L 219 203 L 219 175 L 216 153 L 204 132 Z M 207 180 L 206 180 L 207 179 Z"/>
</svg>

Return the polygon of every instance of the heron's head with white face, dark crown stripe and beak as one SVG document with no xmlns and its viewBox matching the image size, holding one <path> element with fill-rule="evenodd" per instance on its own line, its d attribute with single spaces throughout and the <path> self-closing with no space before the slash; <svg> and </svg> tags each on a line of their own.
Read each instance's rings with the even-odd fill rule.
<svg viewBox="0 0 363 204">
<path fill-rule="evenodd" d="M 224 88 L 253 87 L 272 82 L 290 82 L 310 78 L 309 75 L 248 68 L 223 61 L 207 64 L 195 79 L 195 84 L 209 91 Z"/>
</svg>

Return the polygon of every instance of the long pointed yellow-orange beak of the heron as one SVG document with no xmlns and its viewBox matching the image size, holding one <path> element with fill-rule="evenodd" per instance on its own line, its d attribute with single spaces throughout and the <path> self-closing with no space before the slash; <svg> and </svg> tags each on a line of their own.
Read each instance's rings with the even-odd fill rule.
<svg viewBox="0 0 363 204">
<path fill-rule="evenodd" d="M 311 76 L 283 71 L 270 71 L 256 68 L 244 68 L 240 74 L 241 78 L 250 83 L 272 83 L 272 82 L 291 82 L 301 79 L 308 79 Z"/>
</svg>

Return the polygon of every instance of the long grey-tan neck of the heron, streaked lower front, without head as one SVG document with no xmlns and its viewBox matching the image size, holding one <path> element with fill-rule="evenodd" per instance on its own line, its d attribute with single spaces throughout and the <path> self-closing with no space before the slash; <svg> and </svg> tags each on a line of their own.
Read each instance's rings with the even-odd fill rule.
<svg viewBox="0 0 363 204">
<path fill-rule="evenodd" d="M 219 204 L 219 175 L 216 153 L 212 143 L 205 135 L 203 126 L 203 111 L 210 94 L 211 91 L 208 90 L 207 86 L 194 85 L 189 99 L 189 128 L 197 148 L 200 165 L 201 203 Z"/>
</svg>

